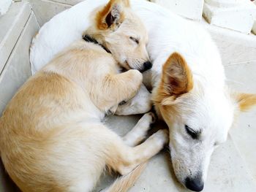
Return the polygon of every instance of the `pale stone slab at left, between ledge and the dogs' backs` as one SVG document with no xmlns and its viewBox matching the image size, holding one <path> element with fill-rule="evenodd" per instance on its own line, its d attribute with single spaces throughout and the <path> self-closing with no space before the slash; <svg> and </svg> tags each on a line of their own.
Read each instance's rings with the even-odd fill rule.
<svg viewBox="0 0 256 192">
<path fill-rule="evenodd" d="M 7 63 L 0 75 L 0 115 L 5 104 L 12 99 L 12 96 L 21 85 L 31 76 L 29 63 L 29 47 L 31 39 L 39 30 L 39 25 L 34 13 L 31 13 L 23 31 L 20 31 L 12 53 L 8 55 Z"/>
</svg>

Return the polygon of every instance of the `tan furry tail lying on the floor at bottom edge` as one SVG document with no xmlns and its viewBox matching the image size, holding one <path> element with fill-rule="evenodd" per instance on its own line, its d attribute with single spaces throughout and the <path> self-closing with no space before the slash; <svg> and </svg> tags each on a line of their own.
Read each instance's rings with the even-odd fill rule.
<svg viewBox="0 0 256 192">
<path fill-rule="evenodd" d="M 140 177 L 140 174 L 146 167 L 146 162 L 140 164 L 132 172 L 129 174 L 123 175 L 119 177 L 110 187 L 106 188 L 102 192 L 126 192 L 132 185 L 135 183 L 136 180 Z"/>
</svg>

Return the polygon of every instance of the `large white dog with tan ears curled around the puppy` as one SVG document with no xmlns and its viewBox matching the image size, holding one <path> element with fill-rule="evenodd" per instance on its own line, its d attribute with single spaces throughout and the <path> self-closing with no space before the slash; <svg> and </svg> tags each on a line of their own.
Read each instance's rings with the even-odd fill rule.
<svg viewBox="0 0 256 192">
<path fill-rule="evenodd" d="M 106 1 L 83 1 L 46 23 L 31 47 L 32 72 L 80 39 L 89 12 Z M 176 177 L 190 190 L 202 191 L 211 153 L 227 139 L 238 112 L 256 104 L 256 96 L 226 88 L 219 52 L 203 28 L 146 1 L 132 1 L 132 9 L 148 30 L 153 67 L 144 82 L 153 88 L 159 118 L 170 128 Z"/>
</svg>

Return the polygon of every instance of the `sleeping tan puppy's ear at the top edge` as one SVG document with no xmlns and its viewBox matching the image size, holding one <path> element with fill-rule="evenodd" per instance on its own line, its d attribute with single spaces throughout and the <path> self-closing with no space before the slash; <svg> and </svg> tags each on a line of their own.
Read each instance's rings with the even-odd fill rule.
<svg viewBox="0 0 256 192">
<path fill-rule="evenodd" d="M 129 0 L 110 0 L 96 16 L 97 28 L 114 30 L 124 20 L 124 9 L 129 7 Z"/>
</svg>

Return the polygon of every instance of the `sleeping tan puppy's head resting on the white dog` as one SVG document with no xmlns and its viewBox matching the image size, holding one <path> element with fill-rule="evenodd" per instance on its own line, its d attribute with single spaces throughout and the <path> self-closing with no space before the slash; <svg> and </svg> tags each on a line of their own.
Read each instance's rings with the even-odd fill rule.
<svg viewBox="0 0 256 192">
<path fill-rule="evenodd" d="M 128 0 L 110 0 L 97 10 L 86 34 L 107 47 L 125 69 L 143 72 L 151 68 L 146 51 L 146 28 L 130 9 Z"/>
</svg>

